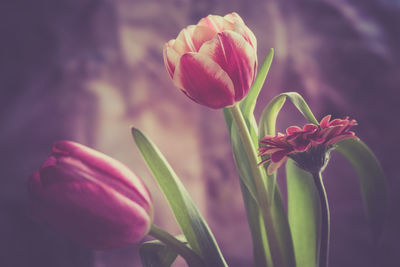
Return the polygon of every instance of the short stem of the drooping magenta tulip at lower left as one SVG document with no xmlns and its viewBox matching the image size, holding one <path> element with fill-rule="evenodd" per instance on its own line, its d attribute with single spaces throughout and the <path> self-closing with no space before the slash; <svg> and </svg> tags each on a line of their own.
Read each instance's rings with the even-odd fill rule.
<svg viewBox="0 0 400 267">
<path fill-rule="evenodd" d="M 190 267 L 202 267 L 204 263 L 197 253 L 189 248 L 184 242 L 179 241 L 170 233 L 164 231 L 155 224 L 151 225 L 149 235 L 160 240 L 168 247 L 172 248 L 177 254 L 181 255 Z"/>
</svg>

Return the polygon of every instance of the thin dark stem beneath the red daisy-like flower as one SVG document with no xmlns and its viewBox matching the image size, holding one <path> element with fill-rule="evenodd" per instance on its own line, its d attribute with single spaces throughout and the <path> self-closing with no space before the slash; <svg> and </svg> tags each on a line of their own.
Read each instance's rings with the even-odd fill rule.
<svg viewBox="0 0 400 267">
<path fill-rule="evenodd" d="M 321 222 L 319 226 L 317 266 L 328 267 L 330 231 L 329 204 L 324 183 L 322 181 L 321 172 L 313 173 L 313 177 L 321 203 Z"/>
</svg>

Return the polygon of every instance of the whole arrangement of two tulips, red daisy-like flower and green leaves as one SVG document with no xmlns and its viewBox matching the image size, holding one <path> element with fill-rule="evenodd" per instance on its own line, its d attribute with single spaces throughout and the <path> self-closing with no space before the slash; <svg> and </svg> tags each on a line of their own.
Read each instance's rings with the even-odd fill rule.
<svg viewBox="0 0 400 267">
<path fill-rule="evenodd" d="M 355 168 L 373 241 L 385 218 L 385 177 L 369 148 L 350 129 L 348 117 L 316 120 L 295 92 L 254 108 L 272 63 L 271 49 L 258 69 L 257 41 L 236 13 L 210 15 L 164 45 L 166 70 L 194 102 L 222 110 L 236 163 L 253 241 L 254 266 L 326 267 L 329 261 L 329 205 L 322 172 L 336 150 Z M 258 72 L 258 73 L 257 73 Z M 289 99 L 309 121 L 275 133 L 277 116 Z M 59 141 L 29 179 L 32 214 L 92 249 L 143 242 L 143 266 L 171 266 L 179 255 L 188 266 L 228 266 L 207 222 L 156 145 L 139 129 L 132 135 L 171 207 L 181 236 L 153 224 L 144 183 L 122 163 L 84 145 Z M 286 164 L 287 211 L 276 182 Z M 155 214 L 156 216 L 157 214 Z"/>
</svg>

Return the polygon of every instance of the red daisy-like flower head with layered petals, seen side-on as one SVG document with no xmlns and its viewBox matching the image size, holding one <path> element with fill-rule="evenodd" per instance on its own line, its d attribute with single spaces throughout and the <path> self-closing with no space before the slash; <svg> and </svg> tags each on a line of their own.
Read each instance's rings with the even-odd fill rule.
<svg viewBox="0 0 400 267">
<path fill-rule="evenodd" d="M 330 119 L 331 115 L 325 116 L 319 127 L 314 124 L 306 124 L 303 129 L 291 126 L 286 129 L 286 134 L 265 136 L 260 141 L 259 156 L 267 158 L 260 165 L 270 162 L 267 172 L 272 174 L 290 157 L 306 170 L 320 169 L 326 164 L 325 154 L 333 144 L 357 138 L 349 131 L 357 125 L 355 120 L 349 120 L 349 117 Z"/>
</svg>

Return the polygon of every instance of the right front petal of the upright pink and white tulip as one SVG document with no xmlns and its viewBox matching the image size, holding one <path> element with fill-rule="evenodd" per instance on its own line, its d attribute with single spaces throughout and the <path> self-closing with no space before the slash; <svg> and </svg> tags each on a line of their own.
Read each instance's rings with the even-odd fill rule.
<svg viewBox="0 0 400 267">
<path fill-rule="evenodd" d="M 214 60 L 232 79 L 235 100 L 241 100 L 250 89 L 254 77 L 256 54 L 242 36 L 233 31 L 218 33 L 199 51 Z"/>
</svg>

